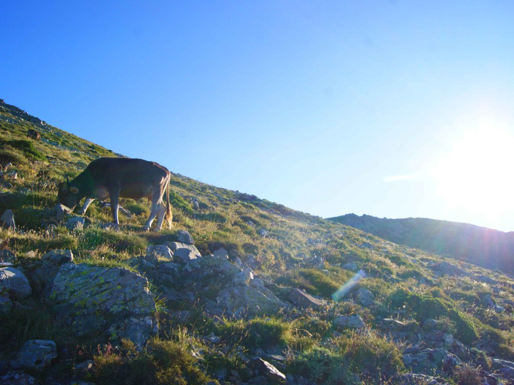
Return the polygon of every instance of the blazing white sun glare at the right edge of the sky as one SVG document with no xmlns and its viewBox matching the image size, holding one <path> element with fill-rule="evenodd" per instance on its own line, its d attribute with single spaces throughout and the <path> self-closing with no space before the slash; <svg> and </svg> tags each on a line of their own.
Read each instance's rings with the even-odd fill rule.
<svg viewBox="0 0 514 385">
<path fill-rule="evenodd" d="M 498 218 L 512 209 L 514 135 L 481 127 L 462 132 L 432 170 L 436 194 L 448 206 Z"/>
</svg>

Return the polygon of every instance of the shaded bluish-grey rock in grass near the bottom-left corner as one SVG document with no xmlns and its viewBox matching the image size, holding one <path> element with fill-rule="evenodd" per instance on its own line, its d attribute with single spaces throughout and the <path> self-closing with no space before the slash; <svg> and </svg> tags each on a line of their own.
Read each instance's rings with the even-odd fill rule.
<svg viewBox="0 0 514 385">
<path fill-rule="evenodd" d="M 31 339 L 24 343 L 22 349 L 11 361 L 13 368 L 42 370 L 50 361 L 57 358 L 56 343 L 50 340 Z"/>
</svg>

